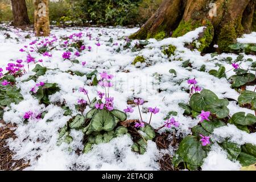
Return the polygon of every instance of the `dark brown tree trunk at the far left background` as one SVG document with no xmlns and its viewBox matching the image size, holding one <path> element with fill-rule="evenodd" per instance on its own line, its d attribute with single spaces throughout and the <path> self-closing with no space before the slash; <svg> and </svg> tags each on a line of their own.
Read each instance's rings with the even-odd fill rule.
<svg viewBox="0 0 256 182">
<path fill-rule="evenodd" d="M 13 25 L 16 27 L 27 26 L 30 24 L 30 19 L 27 15 L 27 6 L 25 0 L 11 0 L 13 9 Z"/>
</svg>

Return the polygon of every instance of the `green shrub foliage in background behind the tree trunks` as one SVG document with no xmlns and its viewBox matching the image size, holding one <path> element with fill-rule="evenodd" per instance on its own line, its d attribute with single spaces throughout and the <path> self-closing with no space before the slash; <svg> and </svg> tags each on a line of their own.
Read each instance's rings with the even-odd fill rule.
<svg viewBox="0 0 256 182">
<path fill-rule="evenodd" d="M 136 26 L 146 22 L 162 0 L 60 0 L 49 2 L 52 24 L 64 26 Z M 28 16 L 34 22 L 32 0 L 26 0 Z M 13 19 L 10 0 L 0 0 L 0 22 Z"/>
</svg>

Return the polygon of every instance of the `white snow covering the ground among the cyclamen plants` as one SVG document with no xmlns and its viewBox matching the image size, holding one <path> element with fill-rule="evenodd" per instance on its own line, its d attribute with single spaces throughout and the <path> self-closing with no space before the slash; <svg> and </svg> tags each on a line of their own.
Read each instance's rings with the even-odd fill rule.
<svg viewBox="0 0 256 182">
<path fill-rule="evenodd" d="M 191 134 L 191 127 L 196 126 L 200 119 L 192 119 L 183 115 L 183 109 L 178 104 L 179 102 L 188 102 L 189 94 L 184 91 L 188 88 L 188 78 L 196 78 L 199 86 L 204 89 L 212 90 L 218 97 L 238 99 L 239 94 L 236 90 L 230 88 L 230 83 L 226 78 L 216 78 L 209 75 L 210 69 L 218 69 L 216 63 L 225 66 L 226 70 L 232 69 L 232 65 L 221 61 L 224 57 L 233 57 L 236 59 L 238 55 L 223 53 L 213 59 L 210 54 L 201 56 L 199 51 L 191 51 L 184 47 L 185 43 L 192 42 L 197 38 L 203 27 L 197 28 L 195 31 L 189 32 L 180 38 L 168 38 L 160 42 L 155 39 L 148 40 L 148 44 L 144 49 L 137 52 L 131 52 L 130 49 L 121 51 L 116 50 L 121 44 L 125 44 L 125 37 L 129 36 L 138 28 L 53 28 L 52 35 L 58 38 L 60 42 L 61 36 L 69 36 L 73 33 L 82 32 L 92 34 L 92 40 L 87 36 L 82 39 L 86 47 L 91 46 L 92 51 L 83 51 L 80 57 L 76 59 L 80 64 L 72 64 L 70 61 L 63 60 L 62 48 L 53 49 L 51 51 L 52 57 L 39 56 L 36 53 L 31 55 L 36 57 L 36 60 L 43 59 L 43 63 L 39 63 L 44 67 L 57 70 L 50 70 L 44 76 L 40 76 L 37 82 L 52 82 L 57 83 L 60 87 L 60 92 L 53 94 L 50 97 L 51 102 L 66 101 L 67 106 L 76 115 L 78 111 L 75 109 L 74 103 L 78 99 L 87 99 L 84 94 L 73 92 L 73 89 L 84 87 L 88 89 L 91 98 L 96 97 L 97 90 L 101 90 L 99 86 L 87 86 L 88 81 L 86 76 L 72 76 L 61 71 L 80 71 L 82 73 L 90 73 L 97 69 L 100 73 L 106 71 L 114 75 L 114 88 L 110 90 L 111 96 L 114 97 L 114 106 L 123 110 L 127 106 L 127 100 L 134 97 L 143 98 L 148 101 L 143 107 L 159 107 L 160 113 L 153 115 L 152 126 L 158 128 L 163 125 L 164 117 L 169 111 L 177 111 L 175 119 L 180 122 L 177 135 L 182 133 L 184 136 Z M 32 32 L 26 31 L 7 31 L 12 39 L 6 39 L 4 35 L 6 31 L 0 31 L 0 68 L 5 68 L 7 63 L 14 63 L 16 60 L 26 60 L 26 53 L 20 52 L 19 49 L 24 45 L 28 45 L 36 38 Z M 30 34 L 31 38 L 24 37 Z M 101 34 L 101 35 L 99 35 Z M 96 46 L 99 38 L 100 47 Z M 109 39 L 113 39 L 113 43 Z M 43 38 L 42 38 L 43 39 Z M 51 39 L 51 38 L 49 38 Z M 17 42 L 19 40 L 19 42 Z M 256 43 L 256 33 L 245 35 L 245 38 L 239 39 L 243 43 Z M 137 41 L 133 41 L 133 45 Z M 118 43 L 118 45 L 113 45 Z M 168 58 L 162 53 L 162 46 L 172 44 L 177 47 L 175 56 Z M 136 56 L 143 56 L 146 63 L 138 63 L 132 65 L 131 63 Z M 74 55 L 72 55 L 75 57 Z M 245 55 L 245 59 L 251 58 L 256 60 L 255 56 Z M 170 61 L 171 60 L 171 61 Z M 193 68 L 187 69 L 181 67 L 183 61 L 190 60 Z M 86 61 L 83 66 L 82 62 Z M 205 64 L 206 72 L 200 72 L 200 67 Z M 251 62 L 243 61 L 242 68 L 247 68 Z M 19 82 L 34 75 L 32 72 L 33 64 L 30 64 L 30 72 L 17 79 L 18 87 L 24 100 L 18 105 L 11 105 L 10 109 L 6 109 L 3 119 L 5 122 L 16 123 L 18 125 L 15 134 L 18 138 L 9 140 L 11 150 L 16 152 L 15 158 L 23 158 L 30 160 L 31 167 L 27 170 L 158 170 L 160 167 L 157 160 L 165 153 L 174 154 L 174 148 L 169 150 L 159 151 L 156 144 L 152 141 L 148 142 L 147 152 L 144 155 L 139 155 L 131 151 L 132 140 L 126 135 L 115 138 L 109 143 L 98 144 L 88 154 L 77 155 L 76 150 L 83 149 L 81 142 L 83 134 L 81 131 L 72 131 L 71 136 L 73 142 L 71 144 L 61 144 L 57 146 L 57 138 L 59 137 L 58 130 L 63 127 L 65 123 L 71 118 L 64 116 L 64 110 L 55 105 L 39 105 L 38 100 L 29 93 L 31 88 L 35 86 L 36 82 L 30 80 L 28 82 Z M 25 64 L 27 69 L 27 65 Z M 177 77 L 172 77 L 169 73 L 170 69 L 175 69 Z M 227 76 L 232 76 L 234 73 L 228 72 Z M 180 82 L 180 84 L 177 84 Z M 163 90 L 158 92 L 158 89 Z M 247 87 L 247 90 L 254 90 L 253 86 Z M 237 111 L 245 111 L 246 113 L 254 114 L 254 111 L 244 109 L 236 105 L 235 102 L 230 102 L 228 106 L 230 114 Z M 139 112 L 134 109 L 134 113 L 129 114 L 129 119 L 138 119 Z M 23 115 L 27 111 L 35 113 L 42 113 L 48 111 L 46 117 L 39 121 L 23 123 Z M 86 109 L 89 111 L 89 108 Z M 85 111 L 85 112 L 86 112 Z M 143 119 L 148 121 L 150 115 L 143 113 Z M 46 122 L 47 119 L 52 119 L 52 122 Z M 162 129 L 165 131 L 168 129 Z M 233 125 L 218 128 L 214 131 L 213 140 L 222 140 L 223 138 L 230 138 L 230 141 L 238 144 L 252 143 L 256 144 L 256 134 L 247 134 L 244 131 L 237 130 Z M 203 170 L 239 170 L 241 165 L 237 161 L 230 161 L 227 159 L 227 154 L 222 148 L 213 144 L 208 157 L 204 160 L 202 166 Z"/>
</svg>

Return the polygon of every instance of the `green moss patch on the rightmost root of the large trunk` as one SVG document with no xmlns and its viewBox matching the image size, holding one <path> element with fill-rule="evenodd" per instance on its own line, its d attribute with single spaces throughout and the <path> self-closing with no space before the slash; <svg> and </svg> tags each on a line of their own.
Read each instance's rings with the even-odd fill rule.
<svg viewBox="0 0 256 182">
<path fill-rule="evenodd" d="M 217 39 L 218 48 L 224 52 L 232 51 L 229 48 L 230 44 L 236 43 L 238 36 L 243 34 L 243 27 L 241 24 L 241 18 L 238 18 L 234 22 L 229 22 L 222 26 L 220 34 Z"/>
</svg>

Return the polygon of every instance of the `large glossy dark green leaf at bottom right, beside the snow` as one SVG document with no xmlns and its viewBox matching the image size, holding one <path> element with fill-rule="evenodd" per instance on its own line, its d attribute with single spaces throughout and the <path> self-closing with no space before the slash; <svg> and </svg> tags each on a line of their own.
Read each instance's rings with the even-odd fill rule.
<svg viewBox="0 0 256 182">
<path fill-rule="evenodd" d="M 207 157 L 207 152 L 204 151 L 203 146 L 197 137 L 188 135 L 188 137 L 180 142 L 179 149 L 176 151 L 175 155 L 178 155 L 183 162 L 188 163 L 191 166 L 200 167 L 203 165 L 204 158 Z M 175 167 L 178 165 L 179 164 L 176 163 Z"/>
</svg>

